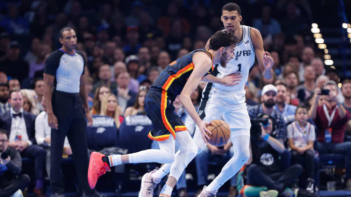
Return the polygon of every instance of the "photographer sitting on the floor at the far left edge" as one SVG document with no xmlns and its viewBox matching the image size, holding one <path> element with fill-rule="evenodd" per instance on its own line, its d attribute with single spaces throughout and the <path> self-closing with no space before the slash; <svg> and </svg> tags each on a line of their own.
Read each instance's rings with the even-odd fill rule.
<svg viewBox="0 0 351 197">
<path fill-rule="evenodd" d="M 0 197 L 20 193 L 18 190 L 23 191 L 30 182 L 28 175 L 20 175 L 22 165 L 20 153 L 7 144 L 8 133 L 0 129 Z"/>
</svg>

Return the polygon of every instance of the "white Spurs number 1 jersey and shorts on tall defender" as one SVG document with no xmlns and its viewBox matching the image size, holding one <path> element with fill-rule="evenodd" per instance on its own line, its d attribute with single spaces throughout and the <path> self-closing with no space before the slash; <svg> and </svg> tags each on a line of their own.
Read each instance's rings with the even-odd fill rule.
<svg viewBox="0 0 351 197">
<path fill-rule="evenodd" d="M 250 136 L 250 117 L 245 103 L 245 83 L 248 80 L 251 67 L 254 65 L 255 52 L 252 44 L 251 27 L 241 25 L 243 39 L 236 44 L 234 58 L 229 61 L 226 68 L 216 65 L 212 72 L 218 78 L 228 74 L 239 72 L 242 76 L 239 84 L 234 86 L 223 86 L 216 83 L 208 83 L 202 91 L 202 98 L 198 115 L 204 121 L 222 119 L 232 129 L 244 129 L 232 131 L 231 138 L 239 135 Z M 198 129 L 198 128 L 196 128 Z"/>
</svg>

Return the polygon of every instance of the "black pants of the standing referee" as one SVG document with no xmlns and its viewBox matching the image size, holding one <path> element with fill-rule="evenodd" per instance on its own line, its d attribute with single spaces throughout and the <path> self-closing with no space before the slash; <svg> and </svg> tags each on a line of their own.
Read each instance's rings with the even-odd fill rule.
<svg viewBox="0 0 351 197">
<path fill-rule="evenodd" d="M 54 90 L 52 96 L 53 111 L 58 119 L 58 129 L 51 129 L 50 182 L 51 191 L 63 193 L 61 162 L 63 142 L 67 135 L 79 182 L 86 195 L 95 193 L 88 184 L 88 144 L 86 138 L 86 120 L 79 93 L 66 93 Z"/>
</svg>

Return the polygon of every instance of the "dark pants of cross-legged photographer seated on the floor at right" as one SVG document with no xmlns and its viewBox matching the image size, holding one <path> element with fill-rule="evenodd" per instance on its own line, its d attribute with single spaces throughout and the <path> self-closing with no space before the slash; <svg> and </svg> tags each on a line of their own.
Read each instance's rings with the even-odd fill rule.
<svg viewBox="0 0 351 197">
<path fill-rule="evenodd" d="M 283 172 L 268 173 L 263 167 L 251 164 L 247 172 L 249 185 L 266 186 L 281 193 L 301 175 L 302 167 L 300 164 L 294 164 Z"/>
</svg>

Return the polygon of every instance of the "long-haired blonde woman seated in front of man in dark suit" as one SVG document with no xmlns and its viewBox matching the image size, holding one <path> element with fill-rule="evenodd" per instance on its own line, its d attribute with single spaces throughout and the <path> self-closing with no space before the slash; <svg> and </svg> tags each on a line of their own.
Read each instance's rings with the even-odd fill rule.
<svg viewBox="0 0 351 197">
<path fill-rule="evenodd" d="M 117 128 L 119 128 L 124 118 L 122 116 L 122 110 L 117 104 L 117 97 L 115 94 L 109 93 L 102 99 L 100 115 L 113 118 Z"/>
</svg>

